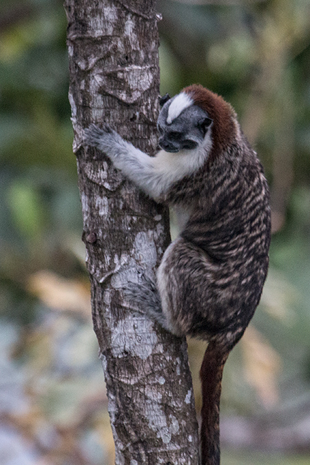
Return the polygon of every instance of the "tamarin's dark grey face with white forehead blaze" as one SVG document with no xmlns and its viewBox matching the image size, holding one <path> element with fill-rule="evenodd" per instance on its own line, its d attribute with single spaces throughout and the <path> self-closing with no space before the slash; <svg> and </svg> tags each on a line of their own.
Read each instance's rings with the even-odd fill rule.
<svg viewBox="0 0 310 465">
<path fill-rule="evenodd" d="M 196 149 L 211 127 L 207 112 L 181 93 L 163 105 L 158 116 L 158 144 L 166 152 Z"/>
</svg>

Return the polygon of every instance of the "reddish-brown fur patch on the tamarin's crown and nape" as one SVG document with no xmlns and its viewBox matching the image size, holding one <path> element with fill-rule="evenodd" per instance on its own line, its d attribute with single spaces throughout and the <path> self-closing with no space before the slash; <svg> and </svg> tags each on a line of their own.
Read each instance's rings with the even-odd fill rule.
<svg viewBox="0 0 310 465">
<path fill-rule="evenodd" d="M 200 84 L 189 85 L 182 92 L 190 95 L 195 105 L 205 110 L 214 121 L 212 125 L 214 144 L 211 153 L 211 158 L 214 158 L 231 143 L 236 135 L 236 126 L 232 118 L 236 114 L 231 105 L 225 102 L 221 96 L 205 89 Z"/>
</svg>

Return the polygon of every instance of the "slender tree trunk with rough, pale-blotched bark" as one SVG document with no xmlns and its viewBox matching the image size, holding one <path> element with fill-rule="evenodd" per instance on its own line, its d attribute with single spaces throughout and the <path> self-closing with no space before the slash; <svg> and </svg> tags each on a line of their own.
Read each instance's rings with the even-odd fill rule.
<svg viewBox="0 0 310 465">
<path fill-rule="evenodd" d="M 70 104 L 92 316 L 107 384 L 116 464 L 198 464 L 185 339 L 123 299 L 138 269 L 154 275 L 169 243 L 167 209 L 138 192 L 83 127 L 109 123 L 145 152 L 156 147 L 158 16 L 154 0 L 65 0 Z"/>
</svg>

